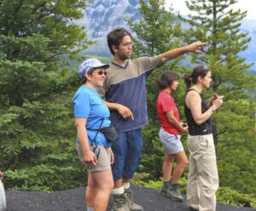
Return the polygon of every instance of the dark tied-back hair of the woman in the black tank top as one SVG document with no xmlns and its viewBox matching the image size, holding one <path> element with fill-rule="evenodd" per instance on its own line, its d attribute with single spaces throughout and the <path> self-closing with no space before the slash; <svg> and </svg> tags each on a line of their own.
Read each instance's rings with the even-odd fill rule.
<svg viewBox="0 0 256 211">
<path fill-rule="evenodd" d="M 210 69 L 207 66 L 196 66 L 193 69 L 193 72 L 190 76 L 188 74 L 185 74 L 184 81 L 187 85 L 187 88 L 189 88 L 192 83 L 193 84 L 197 83 L 198 77 L 202 77 L 202 78 L 206 77 L 208 71 L 210 71 Z"/>
</svg>

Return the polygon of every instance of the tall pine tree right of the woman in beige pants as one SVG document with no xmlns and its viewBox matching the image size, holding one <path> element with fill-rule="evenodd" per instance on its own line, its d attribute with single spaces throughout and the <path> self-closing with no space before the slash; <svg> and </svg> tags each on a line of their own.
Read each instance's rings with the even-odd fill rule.
<svg viewBox="0 0 256 211">
<path fill-rule="evenodd" d="M 236 3 L 236 0 L 186 1 L 191 14 L 183 20 L 190 26 L 186 39 L 208 42 L 206 54 L 193 56 L 192 62 L 210 67 L 212 92 L 224 95 L 224 106 L 212 117 L 220 185 L 255 192 L 256 144 L 252 133 L 255 102 L 249 91 L 255 90 L 256 79 L 246 74 L 251 65 L 239 56 L 251 38 L 240 31 L 241 20 L 247 13 L 233 10 Z"/>
</svg>

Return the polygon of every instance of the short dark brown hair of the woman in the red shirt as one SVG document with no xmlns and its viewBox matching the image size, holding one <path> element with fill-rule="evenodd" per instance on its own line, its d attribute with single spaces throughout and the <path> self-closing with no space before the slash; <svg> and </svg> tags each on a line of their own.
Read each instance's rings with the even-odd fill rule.
<svg viewBox="0 0 256 211">
<path fill-rule="evenodd" d="M 165 88 L 168 88 L 170 86 L 172 86 L 172 83 L 174 81 L 177 81 L 179 79 L 178 75 L 176 72 L 174 71 L 164 71 L 161 75 L 160 78 L 158 80 L 158 88 L 160 88 L 160 90 L 163 90 Z"/>
</svg>

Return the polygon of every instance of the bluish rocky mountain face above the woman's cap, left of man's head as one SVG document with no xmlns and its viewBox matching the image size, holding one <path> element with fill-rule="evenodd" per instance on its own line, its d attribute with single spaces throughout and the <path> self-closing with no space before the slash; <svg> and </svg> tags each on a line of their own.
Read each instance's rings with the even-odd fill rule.
<svg viewBox="0 0 256 211">
<path fill-rule="evenodd" d="M 139 0 L 96 0 L 84 10 L 84 18 L 77 21 L 85 26 L 91 40 L 96 44 L 86 49 L 87 54 L 110 56 L 107 44 L 107 34 L 117 27 L 129 26 L 125 17 L 137 20 L 140 16 Z"/>
</svg>

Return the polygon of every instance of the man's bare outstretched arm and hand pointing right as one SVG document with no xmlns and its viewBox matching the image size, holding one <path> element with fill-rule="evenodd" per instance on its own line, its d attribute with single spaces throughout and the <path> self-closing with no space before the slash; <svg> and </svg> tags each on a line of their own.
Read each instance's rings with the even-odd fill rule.
<svg viewBox="0 0 256 211">
<path fill-rule="evenodd" d="M 197 41 L 195 43 L 191 43 L 187 46 L 181 47 L 181 48 L 175 48 L 169 51 L 166 51 L 166 53 L 163 54 L 163 62 L 166 62 L 168 60 L 172 60 L 177 58 L 178 56 L 186 53 L 195 53 L 195 54 L 202 54 L 203 53 L 203 47 L 207 43 L 201 43 L 201 41 Z"/>
</svg>

